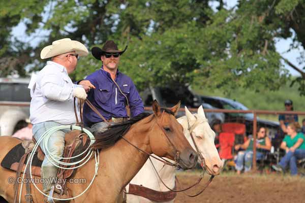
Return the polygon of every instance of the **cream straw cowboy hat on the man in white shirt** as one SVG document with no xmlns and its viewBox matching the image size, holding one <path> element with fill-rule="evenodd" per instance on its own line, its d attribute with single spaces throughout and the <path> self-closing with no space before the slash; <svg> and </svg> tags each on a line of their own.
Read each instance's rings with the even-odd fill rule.
<svg viewBox="0 0 305 203">
<path fill-rule="evenodd" d="M 79 56 L 88 55 L 88 50 L 82 43 L 78 41 L 71 40 L 70 38 L 65 38 L 61 40 L 56 40 L 52 45 L 46 46 L 40 52 L 40 58 L 50 58 L 60 54 L 75 51 Z"/>
</svg>

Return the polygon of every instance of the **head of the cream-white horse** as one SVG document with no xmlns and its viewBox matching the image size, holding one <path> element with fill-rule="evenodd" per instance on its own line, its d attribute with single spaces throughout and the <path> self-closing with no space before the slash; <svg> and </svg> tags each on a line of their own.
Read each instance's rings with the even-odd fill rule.
<svg viewBox="0 0 305 203">
<path fill-rule="evenodd" d="M 202 106 L 198 108 L 197 114 L 193 115 L 187 107 L 185 107 L 186 118 L 185 122 L 182 121 L 184 126 L 184 133 L 189 143 L 195 149 L 194 143 L 191 138 L 193 134 L 194 141 L 198 147 L 199 153 L 204 158 L 205 169 L 210 175 L 219 175 L 223 162 L 221 161 L 218 151 L 215 147 L 215 132 L 210 128 L 208 121 L 204 115 Z"/>
</svg>

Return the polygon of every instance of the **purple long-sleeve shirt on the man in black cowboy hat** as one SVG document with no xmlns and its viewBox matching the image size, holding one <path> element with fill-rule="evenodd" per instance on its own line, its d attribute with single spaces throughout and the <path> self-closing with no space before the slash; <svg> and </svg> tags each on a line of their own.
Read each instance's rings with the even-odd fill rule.
<svg viewBox="0 0 305 203">
<path fill-rule="evenodd" d="M 127 104 L 126 98 L 120 93 L 117 86 L 113 83 L 110 74 L 104 71 L 103 67 L 89 75 L 85 80 L 89 80 L 96 87 L 96 89 L 91 89 L 88 92 L 87 99 L 107 120 L 111 117 L 127 117 L 125 109 Z M 129 100 L 131 115 L 137 116 L 143 113 L 144 106 L 142 99 L 132 80 L 117 70 L 115 82 Z M 86 104 L 83 108 L 83 118 L 86 126 L 103 121 Z"/>
</svg>

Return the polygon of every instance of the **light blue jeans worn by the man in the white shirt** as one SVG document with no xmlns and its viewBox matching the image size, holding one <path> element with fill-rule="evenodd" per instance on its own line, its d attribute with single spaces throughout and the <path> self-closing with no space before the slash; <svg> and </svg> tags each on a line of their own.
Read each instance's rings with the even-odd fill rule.
<svg viewBox="0 0 305 203">
<path fill-rule="evenodd" d="M 35 138 L 36 141 L 38 141 L 48 129 L 50 129 L 54 126 L 60 126 L 60 125 L 62 125 L 62 124 L 56 123 L 54 121 L 46 121 L 46 122 L 34 124 L 33 125 L 33 137 Z M 64 148 L 65 148 L 65 134 L 69 131 L 70 131 L 70 129 L 58 130 L 50 136 L 49 142 L 48 142 L 48 150 L 54 156 L 59 156 L 59 157 L 63 156 Z M 44 139 L 40 142 L 39 146 L 42 149 L 42 151 L 46 154 L 45 149 L 43 147 L 43 142 L 44 142 Z M 58 158 L 58 160 L 59 160 L 59 158 Z M 45 158 L 42 162 L 42 166 L 47 166 L 47 165 L 53 165 L 53 164 L 45 156 Z"/>
</svg>

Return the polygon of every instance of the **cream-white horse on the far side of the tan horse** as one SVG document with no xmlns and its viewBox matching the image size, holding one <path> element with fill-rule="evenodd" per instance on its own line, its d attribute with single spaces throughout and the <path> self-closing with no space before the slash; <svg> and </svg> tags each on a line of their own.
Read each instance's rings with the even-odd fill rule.
<svg viewBox="0 0 305 203">
<path fill-rule="evenodd" d="M 214 144 L 215 132 L 210 128 L 207 119 L 205 118 L 202 106 L 198 108 L 197 115 L 191 114 L 187 107 L 185 107 L 185 110 L 186 116 L 177 119 L 184 128 L 185 137 L 195 149 L 190 135 L 190 129 L 193 129 L 192 133 L 194 135 L 194 140 L 198 146 L 200 153 L 204 157 L 207 173 L 214 176 L 219 175 L 220 170 L 223 167 L 223 163 Z M 164 166 L 164 164 L 158 160 L 152 160 L 152 162 L 165 184 L 170 188 L 174 188 L 175 168 L 167 165 Z M 148 187 L 157 191 L 168 191 L 168 189 L 158 178 L 158 175 L 156 174 L 156 171 L 154 170 L 153 165 L 149 160 L 146 161 L 141 170 L 130 183 L 143 185 L 144 187 Z M 126 189 L 128 191 L 129 185 L 127 185 Z M 141 196 L 127 194 L 127 202 L 144 203 L 155 201 L 151 201 Z M 174 202 L 174 200 L 167 202 Z"/>
</svg>

